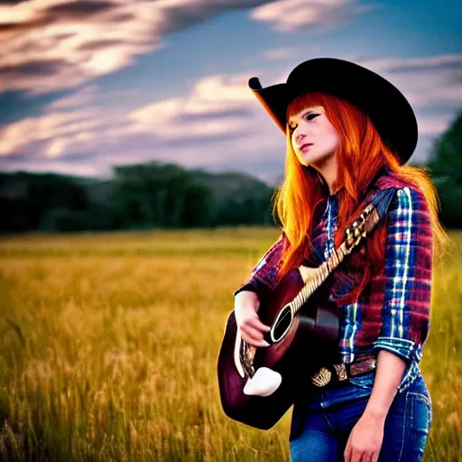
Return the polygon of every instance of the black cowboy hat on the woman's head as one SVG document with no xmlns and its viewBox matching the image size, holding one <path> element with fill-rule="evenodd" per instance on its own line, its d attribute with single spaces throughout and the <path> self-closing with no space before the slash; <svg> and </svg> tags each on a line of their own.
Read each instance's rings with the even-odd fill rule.
<svg viewBox="0 0 462 462">
<path fill-rule="evenodd" d="M 286 133 L 286 113 L 291 101 L 304 93 L 319 91 L 346 99 L 363 110 L 389 147 L 407 162 L 417 144 L 417 120 L 411 105 L 388 80 L 353 62 L 317 58 L 299 64 L 287 83 L 262 88 L 253 77 L 249 87 Z"/>
</svg>

